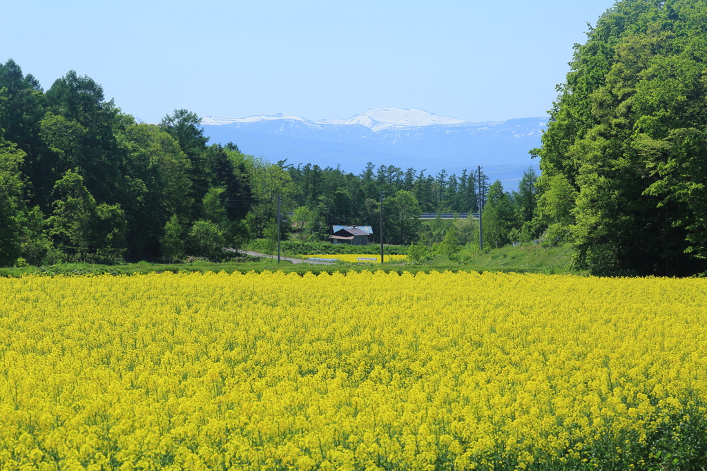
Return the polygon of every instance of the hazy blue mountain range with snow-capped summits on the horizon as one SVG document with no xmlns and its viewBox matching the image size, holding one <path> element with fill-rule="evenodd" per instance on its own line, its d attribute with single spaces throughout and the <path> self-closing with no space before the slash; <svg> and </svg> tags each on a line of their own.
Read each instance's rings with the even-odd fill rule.
<svg viewBox="0 0 707 471">
<path fill-rule="evenodd" d="M 372 108 L 346 120 L 315 121 L 280 113 L 204 117 L 201 124 L 212 143 L 233 141 L 244 153 L 273 162 L 340 165 L 354 173 L 368 162 L 457 174 L 483 165 L 492 180 L 494 168 L 499 179 L 513 180 L 522 168 L 537 168 L 528 151 L 540 146 L 547 118 L 474 123 L 423 110 Z"/>
</svg>

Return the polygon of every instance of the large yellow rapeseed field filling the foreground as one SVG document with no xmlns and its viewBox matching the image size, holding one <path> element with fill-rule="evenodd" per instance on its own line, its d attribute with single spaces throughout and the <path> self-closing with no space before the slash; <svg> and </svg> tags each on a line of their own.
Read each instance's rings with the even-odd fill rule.
<svg viewBox="0 0 707 471">
<path fill-rule="evenodd" d="M 23 277 L 0 299 L 2 470 L 629 469 L 706 415 L 706 279 Z"/>
</svg>

